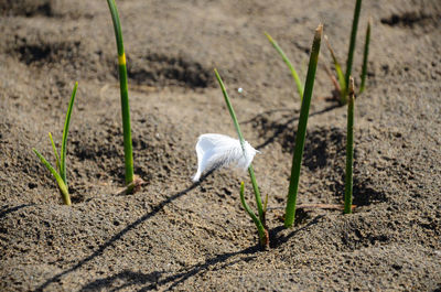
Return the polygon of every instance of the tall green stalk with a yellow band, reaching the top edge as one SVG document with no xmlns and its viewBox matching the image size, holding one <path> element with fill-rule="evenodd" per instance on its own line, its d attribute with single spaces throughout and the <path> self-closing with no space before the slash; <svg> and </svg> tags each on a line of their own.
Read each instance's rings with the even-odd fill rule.
<svg viewBox="0 0 441 292">
<path fill-rule="evenodd" d="M 115 0 L 107 0 L 107 3 L 109 6 L 111 20 L 114 22 L 115 37 L 118 48 L 119 85 L 121 93 L 122 133 L 123 133 L 125 164 L 126 164 L 126 185 L 131 185 L 130 183 L 133 182 L 133 153 L 132 153 L 132 142 L 131 142 L 129 91 L 127 86 L 126 53 L 123 50 L 121 24 L 119 22 L 119 15 Z"/>
</svg>

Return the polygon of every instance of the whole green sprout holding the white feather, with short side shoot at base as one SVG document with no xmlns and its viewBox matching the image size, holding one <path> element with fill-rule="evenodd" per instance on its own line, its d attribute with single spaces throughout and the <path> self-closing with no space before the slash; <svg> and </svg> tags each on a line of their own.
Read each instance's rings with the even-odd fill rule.
<svg viewBox="0 0 441 292">
<path fill-rule="evenodd" d="M 226 102 L 226 105 L 228 107 L 228 111 L 229 111 L 229 115 L 232 116 L 234 126 L 236 128 L 237 136 L 239 137 L 241 149 L 243 149 L 243 151 L 245 153 L 245 139 L 244 139 L 244 136 L 243 136 L 243 133 L 240 131 L 239 122 L 237 121 L 236 113 L 235 113 L 235 111 L 233 109 L 232 102 L 229 100 L 227 90 L 226 90 L 225 85 L 224 85 L 224 82 L 222 80 L 220 75 L 217 73 L 217 69 L 214 69 L 214 73 L 216 74 L 217 82 L 219 83 L 222 93 L 224 94 L 225 102 Z M 256 205 L 257 205 L 257 209 L 258 209 L 259 216 L 256 216 L 252 213 L 252 210 L 249 208 L 247 203 L 245 202 L 244 183 L 240 186 L 240 202 L 241 202 L 244 208 L 246 209 L 246 212 L 248 213 L 248 215 L 251 217 L 252 221 L 256 224 L 257 230 L 259 232 L 260 246 L 262 248 L 265 248 L 269 244 L 268 231 L 265 228 L 265 213 L 266 213 L 266 205 L 267 204 L 265 204 L 265 206 L 262 206 L 262 202 L 261 202 L 261 197 L 260 197 L 260 191 L 259 191 L 259 186 L 257 185 L 257 182 L 256 182 L 256 176 L 255 176 L 255 171 L 254 171 L 252 164 L 250 164 L 249 167 L 248 167 L 248 174 L 249 174 L 249 177 L 251 180 L 252 190 L 255 192 Z M 267 197 L 267 199 L 268 199 L 268 197 Z M 267 202 L 267 199 L 266 199 L 266 202 Z"/>
</svg>

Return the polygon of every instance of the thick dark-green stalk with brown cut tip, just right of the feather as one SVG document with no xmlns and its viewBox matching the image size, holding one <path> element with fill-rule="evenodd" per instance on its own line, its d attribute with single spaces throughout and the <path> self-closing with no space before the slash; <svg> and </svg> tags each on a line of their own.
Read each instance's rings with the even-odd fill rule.
<svg viewBox="0 0 441 292">
<path fill-rule="evenodd" d="M 291 179 L 290 179 L 288 203 L 284 215 L 284 226 L 287 228 L 292 226 L 295 217 L 295 204 L 297 204 L 297 193 L 299 187 L 300 167 L 303 156 L 304 138 L 306 136 L 306 125 L 311 105 L 312 89 L 314 88 L 315 71 L 319 63 L 319 53 L 320 53 L 322 33 L 323 33 L 323 25 L 320 24 L 319 28 L 315 30 L 314 41 L 312 43 L 303 101 L 300 110 L 299 126 L 295 134 L 294 155 L 292 158 Z"/>
</svg>

